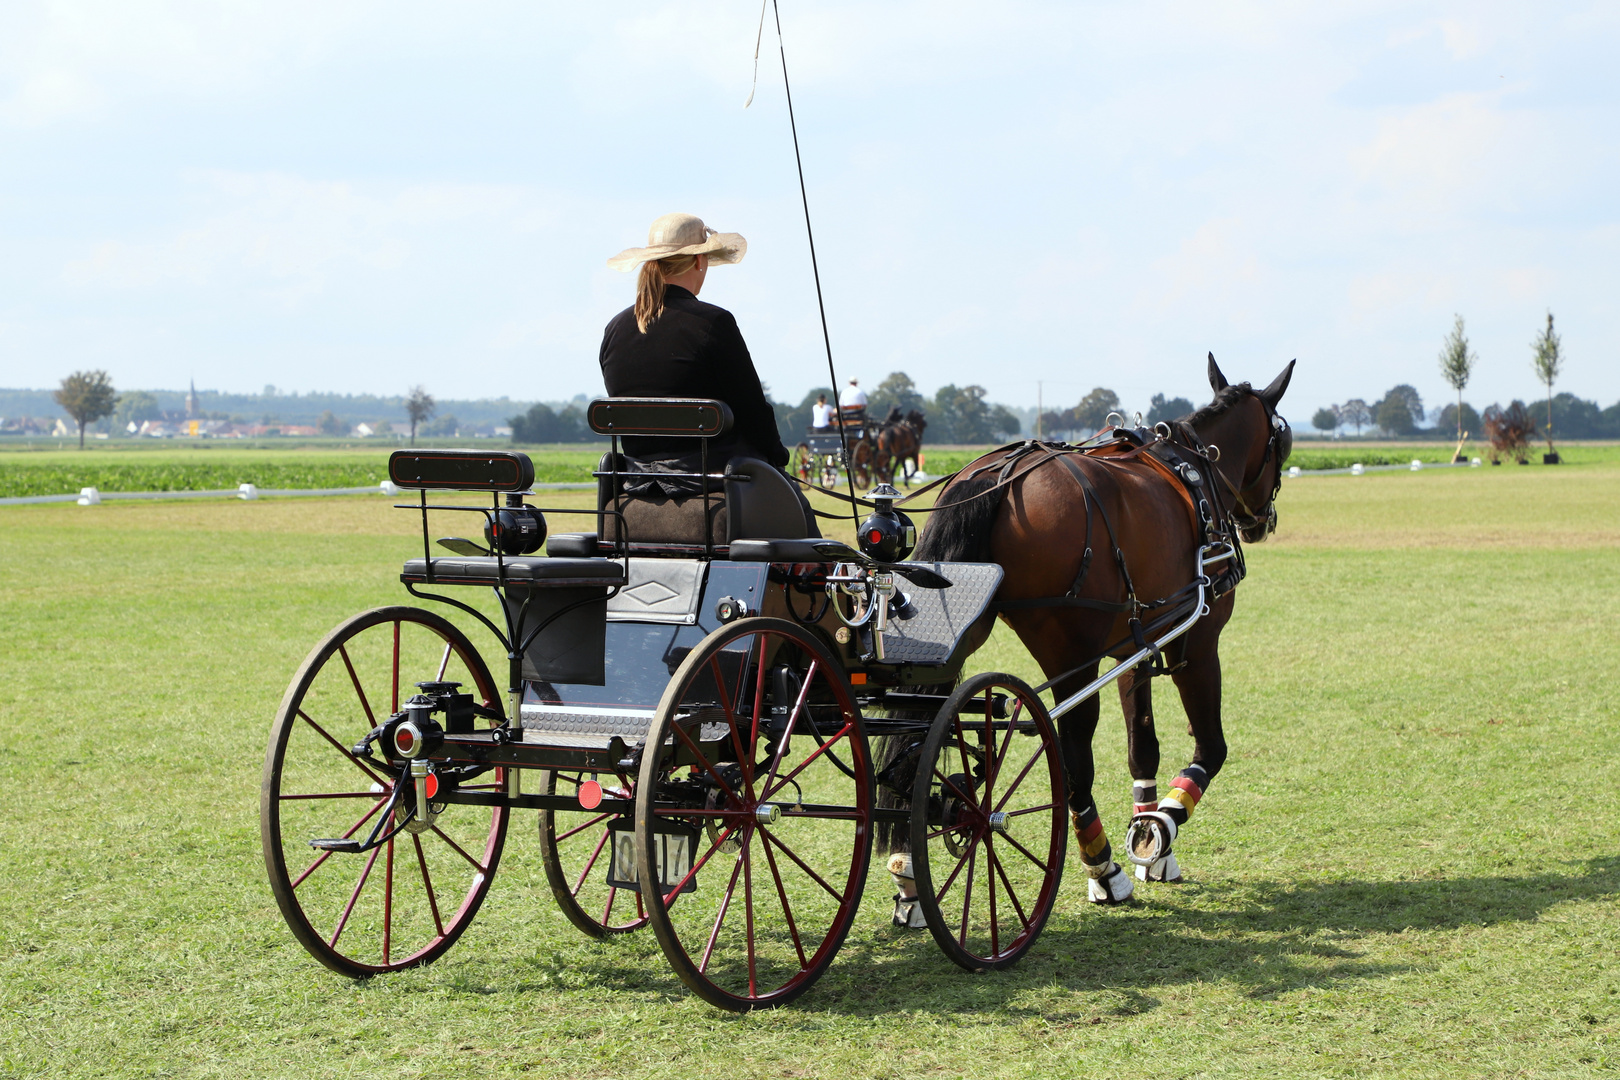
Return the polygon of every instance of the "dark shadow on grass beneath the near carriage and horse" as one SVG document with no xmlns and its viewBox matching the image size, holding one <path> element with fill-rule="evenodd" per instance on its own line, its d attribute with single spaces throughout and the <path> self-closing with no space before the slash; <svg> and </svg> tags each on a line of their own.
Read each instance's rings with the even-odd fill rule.
<svg viewBox="0 0 1620 1080">
<path fill-rule="evenodd" d="M 1155 988 L 1184 983 L 1230 983 L 1265 999 L 1307 986 L 1379 980 L 1419 970 L 1426 960 L 1369 960 L 1364 938 L 1523 923 L 1557 904 L 1610 899 L 1620 894 L 1620 858 L 1521 878 L 1257 881 L 1228 886 L 1218 899 L 1212 894 L 1197 884 L 1155 887 L 1145 902 L 1126 908 L 1076 913 L 1084 902 L 1071 886 L 1017 967 L 977 975 L 940 955 L 927 933 L 875 928 L 886 908 L 863 905 L 841 955 L 795 1007 L 855 1017 L 987 1012 L 1004 1022 L 1009 1015 L 1045 1015 L 1009 1002 L 1022 991 L 1056 986 L 1110 991 L 1113 1006 L 1100 1015 L 1045 1015 L 1048 1022 L 1102 1023 L 1157 1009 Z M 661 965 L 661 957 L 643 947 L 564 952 L 531 962 L 552 970 L 548 983 L 554 989 L 682 996 L 672 972 L 648 967 Z M 565 972 L 559 970 L 564 965 Z M 522 988 L 507 989 L 539 988 L 522 981 Z"/>
</svg>

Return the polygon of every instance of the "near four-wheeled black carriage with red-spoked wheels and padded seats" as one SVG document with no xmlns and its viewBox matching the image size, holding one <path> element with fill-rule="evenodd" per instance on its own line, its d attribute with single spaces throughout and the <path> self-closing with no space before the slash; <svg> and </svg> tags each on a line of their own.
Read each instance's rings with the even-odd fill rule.
<svg viewBox="0 0 1620 1080">
<path fill-rule="evenodd" d="M 878 832 L 909 852 L 915 908 L 951 960 L 1014 963 L 1064 870 L 1053 717 L 1207 614 L 1205 567 L 1234 547 L 1200 547 L 1153 640 L 1137 633 L 1140 648 L 1048 711 L 1013 675 L 961 677 L 1003 567 L 907 562 L 899 492 L 873 492 L 855 549 L 816 538 L 766 463 L 710 473 L 708 439 L 731 426 L 719 402 L 603 398 L 588 418 L 614 439 L 591 510 L 530 504 L 523 453 L 392 455 L 421 513 L 402 583 L 476 619 L 507 662 L 497 682 L 460 628 L 407 606 L 355 615 L 309 653 L 261 793 L 271 886 L 298 941 L 352 976 L 434 960 L 484 902 L 514 814 L 538 811 L 564 915 L 591 936 L 651 926 L 719 1007 L 784 1004 L 820 978 Z M 627 471 L 619 436 L 653 432 L 705 447 L 700 473 L 677 476 L 695 491 Z M 429 512 L 476 515 L 488 547 L 446 538 L 454 554 L 436 554 Z M 590 513 L 596 529 L 548 539 L 549 513 Z"/>
</svg>

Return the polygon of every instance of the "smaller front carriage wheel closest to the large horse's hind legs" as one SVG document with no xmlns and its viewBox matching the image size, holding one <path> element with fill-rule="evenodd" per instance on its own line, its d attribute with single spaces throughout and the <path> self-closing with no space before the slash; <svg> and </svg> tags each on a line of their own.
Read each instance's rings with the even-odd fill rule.
<svg viewBox="0 0 1620 1080">
<path fill-rule="evenodd" d="M 923 740 L 912 808 L 933 939 L 970 972 L 1016 963 L 1047 925 L 1068 850 L 1058 737 L 1025 682 L 985 672 L 956 688 Z"/>
</svg>

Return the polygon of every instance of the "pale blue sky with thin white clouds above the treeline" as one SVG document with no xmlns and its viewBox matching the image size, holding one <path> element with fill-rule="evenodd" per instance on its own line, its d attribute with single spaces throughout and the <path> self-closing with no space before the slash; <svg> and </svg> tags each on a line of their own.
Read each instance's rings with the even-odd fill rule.
<svg viewBox="0 0 1620 1080">
<path fill-rule="evenodd" d="M 1620 5 L 781 0 L 833 358 L 1285 413 L 1620 398 Z M 685 210 L 774 397 L 826 353 L 760 5 L 8 0 L 0 385 L 561 400 Z"/>
</svg>

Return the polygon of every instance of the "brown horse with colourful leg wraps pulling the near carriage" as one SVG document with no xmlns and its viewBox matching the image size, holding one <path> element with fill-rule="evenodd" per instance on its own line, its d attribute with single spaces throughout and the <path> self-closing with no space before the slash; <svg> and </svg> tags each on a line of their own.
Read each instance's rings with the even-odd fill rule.
<svg viewBox="0 0 1620 1080">
<path fill-rule="evenodd" d="M 1254 390 L 1247 382 L 1230 385 L 1210 355 L 1215 400 L 1176 424 L 1179 450 L 1191 453 L 1189 463 L 1196 460 L 1197 468 L 1213 474 L 1207 491 L 1217 534 L 1236 531 L 1244 541 L 1259 542 L 1277 528 L 1273 500 L 1291 449 L 1291 434 L 1277 415 L 1277 403 L 1293 368 L 1290 363 L 1268 387 Z M 1207 457 L 1199 453 L 1199 444 L 1209 447 Z M 1006 578 L 991 610 L 1000 610 L 1013 627 L 1051 680 L 1056 701 L 1063 701 L 1097 678 L 1100 657 L 1121 659 L 1136 653 L 1137 638 L 1131 612 L 1072 601 L 1043 606 L 1042 601 L 1076 597 L 1103 607 L 1123 607 L 1123 601 L 1129 601 L 1152 610 L 1158 597 L 1184 597 L 1205 534 L 1179 483 L 1142 455 L 1051 455 L 1045 447 L 1027 444 L 1022 450 L 1021 460 L 1032 461 L 1030 468 L 1021 470 L 1017 460 L 1008 460 L 1016 458 L 1021 447 L 1003 447 L 964 468 L 940 494 L 914 557 L 1001 563 Z M 1241 567 L 1241 552 L 1230 565 Z M 1210 568 L 1209 573 L 1217 572 Z M 1192 763 L 1171 782 L 1165 798 L 1158 797 L 1158 732 L 1149 669 L 1134 667 L 1118 680 L 1134 777 L 1129 850 L 1137 878 L 1144 881 L 1179 881 L 1171 840 L 1226 759 L 1218 643 L 1231 619 L 1231 585 L 1238 576 L 1231 575 L 1225 586 L 1215 585 L 1207 601 L 1209 614 L 1163 654 L 1194 742 Z M 1145 623 L 1149 617 L 1142 610 L 1136 614 Z M 978 635 L 975 648 L 990 635 L 993 619 L 987 615 L 972 630 Z M 1119 904 L 1131 897 L 1134 886 L 1113 860 L 1092 795 L 1097 717 L 1098 698 L 1094 695 L 1059 717 L 1058 745 L 1081 858 L 1090 876 L 1089 897 L 1097 904 Z M 897 868 L 901 892 L 910 895 L 910 882 L 904 879 L 909 873 L 904 842 L 901 837 L 893 840 L 891 870 Z M 901 921 L 899 910 L 896 921 Z"/>
</svg>

